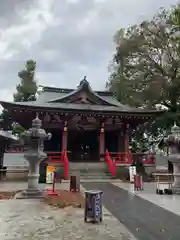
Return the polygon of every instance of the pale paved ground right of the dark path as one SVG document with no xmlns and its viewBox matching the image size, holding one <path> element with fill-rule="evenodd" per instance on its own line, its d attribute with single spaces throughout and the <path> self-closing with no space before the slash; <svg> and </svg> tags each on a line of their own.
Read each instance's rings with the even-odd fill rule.
<svg viewBox="0 0 180 240">
<path fill-rule="evenodd" d="M 180 216 L 180 196 L 179 195 L 158 195 L 155 193 L 155 183 L 145 183 L 144 191 L 134 191 L 134 185 L 130 183 L 112 183 L 113 185 L 120 187 L 136 196 L 141 197 L 159 207 L 178 214 Z"/>
</svg>

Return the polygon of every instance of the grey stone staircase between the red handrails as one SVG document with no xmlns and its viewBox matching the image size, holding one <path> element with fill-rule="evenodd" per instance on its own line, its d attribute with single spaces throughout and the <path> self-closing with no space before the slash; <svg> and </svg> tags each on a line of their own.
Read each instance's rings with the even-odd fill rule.
<svg viewBox="0 0 180 240">
<path fill-rule="evenodd" d="M 69 162 L 69 174 L 79 174 L 81 179 L 111 179 L 104 162 Z"/>
</svg>

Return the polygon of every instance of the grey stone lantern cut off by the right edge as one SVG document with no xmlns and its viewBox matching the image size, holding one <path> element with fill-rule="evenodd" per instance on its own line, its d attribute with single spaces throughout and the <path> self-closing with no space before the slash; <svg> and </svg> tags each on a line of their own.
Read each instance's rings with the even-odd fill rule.
<svg viewBox="0 0 180 240">
<path fill-rule="evenodd" d="M 180 194 L 180 128 L 174 124 L 171 134 L 164 138 L 164 143 L 169 147 L 168 160 L 174 168 L 173 193 Z"/>
</svg>

